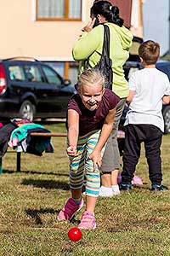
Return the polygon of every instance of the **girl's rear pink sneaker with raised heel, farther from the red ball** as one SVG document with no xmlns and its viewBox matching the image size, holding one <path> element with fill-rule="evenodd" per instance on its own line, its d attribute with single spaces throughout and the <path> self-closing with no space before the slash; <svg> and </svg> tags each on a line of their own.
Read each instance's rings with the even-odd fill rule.
<svg viewBox="0 0 170 256">
<path fill-rule="evenodd" d="M 76 215 L 76 213 L 78 211 L 80 211 L 82 206 L 83 206 L 83 200 L 82 199 L 80 201 L 80 204 L 77 205 L 76 202 L 72 198 L 69 198 L 66 201 L 65 206 L 59 212 L 58 219 L 59 220 L 71 220 L 71 218 L 73 218 Z"/>
</svg>

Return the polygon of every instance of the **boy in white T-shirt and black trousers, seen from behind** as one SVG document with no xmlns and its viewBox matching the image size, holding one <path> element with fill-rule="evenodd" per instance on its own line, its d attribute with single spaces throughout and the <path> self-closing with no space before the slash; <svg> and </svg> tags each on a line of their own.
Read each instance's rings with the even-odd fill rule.
<svg viewBox="0 0 170 256">
<path fill-rule="evenodd" d="M 170 102 L 170 84 L 165 73 L 156 69 L 160 55 L 159 44 L 149 40 L 139 46 L 139 57 L 144 69 L 129 79 L 129 110 L 125 121 L 122 190 L 132 189 L 133 173 L 139 161 L 141 143 L 149 166 L 151 190 L 164 190 L 161 184 L 161 137 L 164 121 L 162 102 Z"/>
</svg>

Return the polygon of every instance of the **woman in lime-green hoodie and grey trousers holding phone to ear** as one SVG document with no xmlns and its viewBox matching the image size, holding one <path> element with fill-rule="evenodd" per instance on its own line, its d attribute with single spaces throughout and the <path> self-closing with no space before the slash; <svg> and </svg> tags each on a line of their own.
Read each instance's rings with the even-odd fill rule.
<svg viewBox="0 0 170 256">
<path fill-rule="evenodd" d="M 108 139 L 101 168 L 102 186 L 99 195 L 112 196 L 120 193 L 117 185 L 120 154 L 116 135 L 128 96 L 127 80 L 122 66 L 128 58 L 133 35 L 123 26 L 123 20 L 119 17 L 119 9 L 116 6 L 112 6 L 107 1 L 94 2 L 91 8 L 91 20 L 82 29 L 82 36 L 78 38 L 72 50 L 73 58 L 80 61 L 80 73 L 84 70 L 84 61 L 87 58 L 90 67 L 94 67 L 99 61 L 99 53 L 102 53 L 104 42 L 104 26 L 99 26 L 100 23 L 105 23 L 110 28 L 110 57 L 113 69 L 112 90 L 121 98 L 116 107 L 114 128 Z"/>
</svg>

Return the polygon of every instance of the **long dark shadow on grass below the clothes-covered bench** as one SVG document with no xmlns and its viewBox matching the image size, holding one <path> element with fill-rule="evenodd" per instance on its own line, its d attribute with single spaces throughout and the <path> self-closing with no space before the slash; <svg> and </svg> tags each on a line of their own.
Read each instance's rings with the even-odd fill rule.
<svg viewBox="0 0 170 256">
<path fill-rule="evenodd" d="M 43 189 L 63 189 L 63 190 L 70 189 L 70 186 L 68 183 L 54 181 L 52 179 L 40 180 L 40 179 L 33 179 L 33 178 L 24 178 L 21 184 L 32 185 L 36 188 L 43 188 Z"/>
</svg>

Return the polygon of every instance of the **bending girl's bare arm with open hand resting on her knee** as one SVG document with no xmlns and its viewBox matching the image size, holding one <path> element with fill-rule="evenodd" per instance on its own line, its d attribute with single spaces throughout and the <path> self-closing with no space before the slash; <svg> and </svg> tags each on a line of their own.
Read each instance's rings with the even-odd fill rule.
<svg viewBox="0 0 170 256">
<path fill-rule="evenodd" d="M 101 150 L 104 147 L 108 137 L 111 134 L 112 128 L 113 128 L 113 120 L 115 117 L 116 108 L 111 109 L 109 113 L 107 114 L 105 118 L 104 125 L 102 126 L 101 133 L 99 136 L 99 141 L 96 144 L 94 151 L 92 154 L 90 154 L 89 158 L 94 161 L 94 169 L 95 166 L 98 165 L 98 167 L 101 167 L 102 161 L 101 161 Z"/>
</svg>

